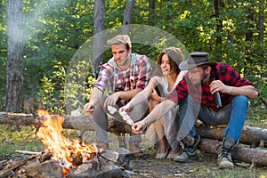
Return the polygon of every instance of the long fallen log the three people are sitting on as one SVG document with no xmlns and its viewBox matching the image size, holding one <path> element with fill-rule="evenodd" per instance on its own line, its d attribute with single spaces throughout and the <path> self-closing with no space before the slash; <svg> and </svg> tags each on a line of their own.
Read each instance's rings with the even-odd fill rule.
<svg viewBox="0 0 267 178">
<path fill-rule="evenodd" d="M 60 115 L 51 115 L 53 118 L 57 118 Z M 0 124 L 7 125 L 40 125 L 40 117 L 35 114 L 22 114 L 22 113 L 8 113 L 0 112 Z M 63 128 L 75 129 L 82 131 L 94 131 L 93 119 L 89 116 L 74 117 L 70 115 L 64 116 Z M 223 141 L 222 126 L 197 126 L 197 134 L 202 138 L 216 139 Z M 112 118 L 109 118 L 109 132 L 110 133 L 130 133 L 130 126 L 123 122 L 118 122 Z M 244 126 L 243 132 L 240 137 L 240 142 L 250 145 L 252 148 L 265 147 L 267 148 L 267 129 Z"/>
</svg>

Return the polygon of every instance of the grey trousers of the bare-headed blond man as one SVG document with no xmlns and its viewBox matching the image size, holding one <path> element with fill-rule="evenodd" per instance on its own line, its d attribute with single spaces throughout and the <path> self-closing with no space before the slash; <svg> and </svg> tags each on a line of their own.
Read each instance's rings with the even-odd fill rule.
<svg viewBox="0 0 267 178">
<path fill-rule="evenodd" d="M 106 100 L 106 96 L 103 96 L 101 98 L 101 101 L 99 101 L 96 106 L 94 107 L 93 111 L 93 125 L 95 129 L 95 140 L 96 142 L 103 142 L 103 143 L 109 143 L 108 141 L 108 116 L 111 115 L 114 117 L 114 119 L 125 122 L 123 118 L 118 114 L 118 112 L 115 112 L 114 114 L 110 114 L 108 109 L 103 107 L 103 103 Z M 122 107 L 123 105 L 117 101 L 117 105 L 115 108 L 117 110 Z M 142 120 L 147 114 L 149 110 L 149 103 L 148 101 L 143 101 L 142 103 L 138 104 L 134 107 L 134 109 L 130 112 L 130 117 L 134 120 L 134 122 Z M 129 143 L 131 142 L 142 142 L 141 135 L 140 134 L 132 134 L 130 133 L 130 139 Z"/>
</svg>

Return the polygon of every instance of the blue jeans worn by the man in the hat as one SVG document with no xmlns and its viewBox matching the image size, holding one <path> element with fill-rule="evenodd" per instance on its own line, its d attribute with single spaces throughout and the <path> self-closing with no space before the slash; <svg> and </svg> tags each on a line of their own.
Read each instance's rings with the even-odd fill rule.
<svg viewBox="0 0 267 178">
<path fill-rule="evenodd" d="M 198 117 L 206 125 L 227 125 L 224 129 L 224 138 L 232 137 L 240 140 L 242 128 L 247 117 L 247 97 L 235 96 L 231 103 L 220 110 L 214 110 L 193 101 L 188 95 L 180 104 L 180 126 L 183 133 L 196 135 L 194 122 Z"/>
</svg>

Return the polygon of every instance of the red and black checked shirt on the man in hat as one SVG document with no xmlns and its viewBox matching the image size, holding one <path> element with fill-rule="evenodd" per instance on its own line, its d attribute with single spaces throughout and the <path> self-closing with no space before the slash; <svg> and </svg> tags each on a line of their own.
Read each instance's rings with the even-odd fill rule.
<svg viewBox="0 0 267 178">
<path fill-rule="evenodd" d="M 216 71 L 214 71 L 213 69 L 212 75 L 216 76 L 216 79 L 221 80 L 224 85 L 238 86 L 238 87 L 244 85 L 253 85 L 247 79 L 240 77 L 237 71 L 232 69 L 231 66 L 228 64 L 217 62 L 216 69 L 217 69 Z M 189 81 L 190 80 L 187 74 L 179 83 L 179 85 L 176 85 L 174 92 L 168 96 L 168 99 L 174 101 L 176 104 L 179 104 L 188 95 L 188 93 L 190 93 L 194 101 L 201 102 L 201 104 L 204 104 L 209 108 L 216 109 L 214 105 L 213 94 L 210 93 L 210 87 L 208 85 L 201 85 L 201 86 L 190 85 Z M 223 106 L 228 105 L 232 101 L 233 97 L 234 97 L 233 95 L 221 93 L 221 100 Z"/>
</svg>

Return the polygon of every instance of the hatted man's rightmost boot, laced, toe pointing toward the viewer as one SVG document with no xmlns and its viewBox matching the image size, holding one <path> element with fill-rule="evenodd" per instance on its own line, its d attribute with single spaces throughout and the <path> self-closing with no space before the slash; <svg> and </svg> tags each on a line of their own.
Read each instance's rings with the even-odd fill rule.
<svg viewBox="0 0 267 178">
<path fill-rule="evenodd" d="M 239 142 L 235 141 L 233 138 L 223 139 L 223 150 L 218 156 L 218 166 L 219 168 L 234 168 L 234 164 L 231 159 L 231 150 L 233 150 Z"/>
</svg>

